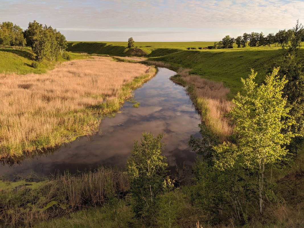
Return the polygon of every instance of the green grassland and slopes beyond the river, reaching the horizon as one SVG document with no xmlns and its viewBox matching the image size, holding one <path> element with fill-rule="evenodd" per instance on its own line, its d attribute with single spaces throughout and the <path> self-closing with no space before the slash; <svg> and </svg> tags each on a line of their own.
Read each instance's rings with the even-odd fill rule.
<svg viewBox="0 0 304 228">
<path fill-rule="evenodd" d="M 190 68 L 190 73 L 198 74 L 213 81 L 223 81 L 233 98 L 241 88 L 240 78 L 250 73 L 250 68 L 258 72 L 261 81 L 273 67 L 280 66 L 281 47 L 245 47 L 215 50 L 186 50 L 186 47 L 207 47 L 214 42 L 135 42 L 135 47 L 147 53 L 152 61 L 163 61 L 175 69 Z M 127 42 L 68 42 L 67 50 L 128 56 Z M 302 48 L 304 53 L 304 48 Z"/>
</svg>

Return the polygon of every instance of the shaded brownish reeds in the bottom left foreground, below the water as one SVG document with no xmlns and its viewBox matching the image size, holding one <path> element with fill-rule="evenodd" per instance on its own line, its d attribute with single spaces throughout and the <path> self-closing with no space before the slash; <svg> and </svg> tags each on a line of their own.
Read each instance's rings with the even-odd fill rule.
<svg viewBox="0 0 304 228">
<path fill-rule="evenodd" d="M 129 188 L 126 173 L 99 167 L 94 172 L 0 190 L 0 227 L 29 227 L 84 207 L 100 206 Z"/>
</svg>

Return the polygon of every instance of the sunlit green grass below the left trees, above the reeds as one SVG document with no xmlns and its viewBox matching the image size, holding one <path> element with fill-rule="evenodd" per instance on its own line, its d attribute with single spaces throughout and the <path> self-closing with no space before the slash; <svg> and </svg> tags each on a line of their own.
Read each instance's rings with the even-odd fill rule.
<svg viewBox="0 0 304 228">
<path fill-rule="evenodd" d="M 69 53 L 71 60 L 87 57 L 79 53 Z M 31 67 L 35 60 L 35 54 L 30 47 L 10 47 L 0 46 L 0 73 L 13 72 L 16 74 L 45 73 L 47 70 L 53 69 L 56 64 L 67 61 L 59 57 L 58 61 L 48 61 L 44 59 L 39 63 L 38 68 Z"/>
</svg>

